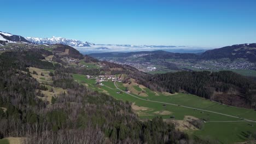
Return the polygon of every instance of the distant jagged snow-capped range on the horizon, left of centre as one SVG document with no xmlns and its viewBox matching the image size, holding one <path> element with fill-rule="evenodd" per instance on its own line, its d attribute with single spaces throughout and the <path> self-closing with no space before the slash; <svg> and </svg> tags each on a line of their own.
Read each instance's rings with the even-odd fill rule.
<svg viewBox="0 0 256 144">
<path fill-rule="evenodd" d="M 33 37 L 26 37 L 27 40 L 31 41 L 34 44 L 64 44 L 74 47 L 84 47 L 95 45 L 92 43 L 88 43 L 87 41 L 83 42 L 80 40 L 75 39 L 66 39 L 61 37 L 51 37 L 51 38 L 33 38 Z"/>
</svg>

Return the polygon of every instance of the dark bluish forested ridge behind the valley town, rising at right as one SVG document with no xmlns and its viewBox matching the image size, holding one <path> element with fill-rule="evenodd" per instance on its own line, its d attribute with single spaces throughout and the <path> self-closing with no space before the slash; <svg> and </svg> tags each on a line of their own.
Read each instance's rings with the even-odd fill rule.
<svg viewBox="0 0 256 144">
<path fill-rule="evenodd" d="M 144 55 L 142 55 L 144 54 Z M 133 55 L 142 55 L 144 59 L 221 59 L 229 58 L 234 61 L 238 58 L 247 59 L 250 62 L 256 62 L 256 44 L 240 44 L 225 46 L 219 49 L 207 50 L 203 53 L 174 53 L 167 51 L 139 51 L 139 52 L 107 52 L 107 53 L 91 53 L 92 57 L 131 57 Z"/>
</svg>

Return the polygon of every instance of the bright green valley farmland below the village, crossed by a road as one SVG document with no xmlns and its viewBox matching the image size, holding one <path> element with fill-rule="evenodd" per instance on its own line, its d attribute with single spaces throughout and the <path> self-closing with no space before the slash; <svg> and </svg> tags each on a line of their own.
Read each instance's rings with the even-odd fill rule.
<svg viewBox="0 0 256 144">
<path fill-rule="evenodd" d="M 84 75 L 73 75 L 74 79 L 78 82 L 87 83 L 89 87 L 95 88 L 95 80 L 88 80 Z M 163 94 L 151 91 L 148 88 L 143 88 L 148 97 L 142 97 L 136 94 L 136 97 L 132 97 L 128 93 L 120 93 L 119 89 L 114 86 L 114 82 L 103 82 L 104 86 L 96 87 L 97 90 L 101 92 L 107 92 L 107 94 L 112 95 L 112 97 L 123 100 L 130 101 L 132 103 L 133 110 L 137 113 L 139 118 L 152 119 L 156 116 L 161 116 L 163 119 L 183 120 L 185 116 L 191 116 L 196 118 L 201 118 L 206 121 L 201 130 L 191 130 L 185 129 L 191 136 L 208 137 L 208 139 L 219 140 L 221 143 L 235 143 L 244 142 L 248 139 L 250 133 L 255 132 L 256 123 L 247 122 L 243 118 L 256 121 L 256 111 L 249 109 L 242 109 L 238 107 L 232 107 L 228 105 L 222 105 L 214 101 L 203 99 L 192 94 Z M 124 90 L 126 87 L 121 82 L 116 82 L 118 88 Z M 139 90 L 137 87 L 133 86 L 135 89 Z M 147 101 L 152 100 L 152 101 Z M 154 101 L 160 101 L 164 103 L 177 104 L 168 105 L 162 103 L 155 103 Z M 190 106 L 195 109 L 202 109 L 208 111 L 214 111 L 219 113 L 224 113 L 226 115 L 241 117 L 229 117 L 225 115 L 220 115 L 218 113 L 212 113 L 207 111 L 188 109 L 182 106 Z"/>
</svg>

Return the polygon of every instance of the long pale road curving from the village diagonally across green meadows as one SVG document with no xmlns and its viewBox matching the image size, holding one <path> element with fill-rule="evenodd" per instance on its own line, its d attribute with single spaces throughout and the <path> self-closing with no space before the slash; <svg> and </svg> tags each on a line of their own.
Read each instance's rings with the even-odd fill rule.
<svg viewBox="0 0 256 144">
<path fill-rule="evenodd" d="M 116 81 L 115 81 L 115 82 L 116 82 Z M 167 104 L 167 105 L 181 106 L 181 107 L 185 107 L 185 108 L 188 108 L 188 109 L 194 109 L 194 110 L 206 111 L 206 112 L 211 112 L 211 113 L 217 113 L 217 114 L 219 114 L 219 115 L 228 116 L 228 117 L 234 117 L 234 118 L 238 118 L 238 119 L 240 119 L 240 117 L 237 117 L 237 116 L 231 116 L 231 115 L 226 115 L 226 114 L 224 114 L 224 113 L 220 113 L 220 112 L 208 111 L 208 110 L 202 110 L 202 109 L 197 109 L 197 108 L 195 108 L 195 107 L 183 106 L 183 105 L 177 105 L 177 104 L 171 104 L 171 103 L 165 103 L 165 102 L 161 102 L 161 101 L 155 101 L 155 100 L 142 99 L 142 98 L 136 97 L 135 95 L 132 95 L 132 94 L 130 94 L 130 93 L 127 93 L 127 92 L 123 91 L 122 89 L 118 88 L 118 86 L 117 86 L 117 84 L 116 84 L 115 82 L 114 82 L 114 85 L 115 85 L 115 87 L 117 87 L 117 89 L 119 89 L 120 91 L 122 91 L 122 92 L 124 92 L 124 93 L 126 93 L 126 94 L 129 94 L 129 95 L 131 95 L 132 97 L 135 97 L 135 98 L 137 98 L 137 99 L 141 99 L 141 100 L 145 100 L 145 101 L 151 101 L 151 102 L 154 102 L 154 103 L 160 103 L 160 104 Z M 253 120 L 251 120 L 251 119 L 242 119 L 242 120 L 247 121 L 247 122 L 254 122 L 254 123 L 256 123 L 256 121 L 253 121 Z M 223 122 L 224 122 L 224 121 L 223 121 Z"/>
</svg>

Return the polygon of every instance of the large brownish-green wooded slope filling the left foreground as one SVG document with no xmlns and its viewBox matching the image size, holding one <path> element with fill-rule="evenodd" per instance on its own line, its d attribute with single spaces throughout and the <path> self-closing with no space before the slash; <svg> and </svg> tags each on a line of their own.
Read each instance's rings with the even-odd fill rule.
<svg viewBox="0 0 256 144">
<path fill-rule="evenodd" d="M 31 49 L 0 55 L 0 138 L 26 137 L 25 143 L 180 143 L 187 134 L 162 118 L 141 122 L 129 103 L 78 84 L 67 67 L 44 61 L 52 55 Z M 85 58 L 89 59 L 89 58 Z M 52 69 L 53 83 L 39 83 L 28 67 Z M 109 67 L 112 67 L 111 65 Z M 41 91 L 65 89 L 49 101 Z"/>
</svg>

